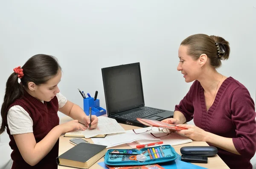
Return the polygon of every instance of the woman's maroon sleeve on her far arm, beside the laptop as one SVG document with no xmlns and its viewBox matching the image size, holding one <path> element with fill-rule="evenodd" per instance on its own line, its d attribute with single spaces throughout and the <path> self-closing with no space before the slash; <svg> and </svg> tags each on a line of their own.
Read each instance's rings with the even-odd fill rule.
<svg viewBox="0 0 256 169">
<path fill-rule="evenodd" d="M 183 113 L 183 115 L 186 117 L 186 122 L 193 119 L 194 115 L 194 106 L 192 101 L 192 93 L 195 90 L 195 83 L 198 81 L 195 81 L 192 86 L 189 89 L 189 92 L 186 94 L 186 96 L 180 101 L 178 105 L 175 106 L 175 111 L 179 111 Z M 199 83 L 199 82 L 198 82 Z"/>
</svg>

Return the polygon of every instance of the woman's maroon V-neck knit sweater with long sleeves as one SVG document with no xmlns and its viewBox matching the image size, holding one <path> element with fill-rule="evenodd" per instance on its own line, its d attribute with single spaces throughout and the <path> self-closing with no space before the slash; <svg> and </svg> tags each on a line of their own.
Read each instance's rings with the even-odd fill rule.
<svg viewBox="0 0 256 169">
<path fill-rule="evenodd" d="M 207 111 L 204 89 L 195 81 L 189 92 L 175 106 L 186 121 L 194 118 L 195 126 L 222 137 L 233 139 L 241 155 L 218 149 L 218 155 L 231 169 L 252 169 L 250 159 L 256 151 L 256 112 L 246 87 L 228 77 L 221 84 L 212 106 Z M 210 144 L 209 144 L 210 145 Z"/>
</svg>

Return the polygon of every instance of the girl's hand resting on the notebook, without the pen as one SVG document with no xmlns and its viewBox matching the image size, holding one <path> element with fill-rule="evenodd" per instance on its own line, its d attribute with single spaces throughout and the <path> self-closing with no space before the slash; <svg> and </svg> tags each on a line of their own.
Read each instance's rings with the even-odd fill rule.
<svg viewBox="0 0 256 169">
<path fill-rule="evenodd" d="M 58 125 L 62 133 L 70 132 L 72 130 L 85 130 L 87 129 L 83 124 L 79 123 L 78 120 L 72 120 L 67 123 Z"/>
</svg>

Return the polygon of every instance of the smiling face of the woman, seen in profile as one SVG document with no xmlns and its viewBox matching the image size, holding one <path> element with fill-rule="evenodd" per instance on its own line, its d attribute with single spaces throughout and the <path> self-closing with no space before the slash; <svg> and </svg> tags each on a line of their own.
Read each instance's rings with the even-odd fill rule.
<svg viewBox="0 0 256 169">
<path fill-rule="evenodd" d="M 187 54 L 188 46 L 180 45 L 179 48 L 179 59 L 177 70 L 181 71 L 185 81 L 187 83 L 198 79 L 201 74 L 201 65 L 199 60 L 194 60 L 191 56 Z"/>
</svg>

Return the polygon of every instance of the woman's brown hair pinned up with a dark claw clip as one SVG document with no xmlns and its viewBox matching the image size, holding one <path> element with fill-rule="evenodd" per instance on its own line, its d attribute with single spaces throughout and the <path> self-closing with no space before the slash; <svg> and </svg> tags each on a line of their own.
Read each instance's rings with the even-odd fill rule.
<svg viewBox="0 0 256 169">
<path fill-rule="evenodd" d="M 214 68 L 221 66 L 221 60 L 227 60 L 230 46 L 227 40 L 218 36 L 207 34 L 193 34 L 181 42 L 180 45 L 188 46 L 187 54 L 197 60 L 201 54 L 206 54 Z"/>
</svg>

